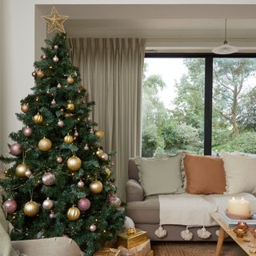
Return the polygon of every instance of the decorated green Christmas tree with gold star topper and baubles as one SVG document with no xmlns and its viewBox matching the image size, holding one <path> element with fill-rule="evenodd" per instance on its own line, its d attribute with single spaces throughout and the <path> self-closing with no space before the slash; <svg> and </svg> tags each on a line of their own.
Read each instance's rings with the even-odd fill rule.
<svg viewBox="0 0 256 256">
<path fill-rule="evenodd" d="M 55 9 L 47 17 L 52 30 L 66 20 Z M 33 94 L 16 114 L 23 127 L 10 134 L 13 156 L 1 156 L 11 163 L 0 180 L 3 205 L 14 225 L 12 239 L 67 236 L 92 255 L 124 223 L 111 178 L 113 155 L 100 144 L 103 132 L 90 118 L 94 102 L 85 100 L 66 34 L 46 40 L 42 52 L 34 62 Z"/>
</svg>

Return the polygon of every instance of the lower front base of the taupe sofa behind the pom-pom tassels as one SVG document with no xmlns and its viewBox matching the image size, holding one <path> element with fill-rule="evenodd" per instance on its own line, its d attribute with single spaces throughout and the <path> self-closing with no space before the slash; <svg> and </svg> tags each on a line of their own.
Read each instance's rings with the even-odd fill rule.
<svg viewBox="0 0 256 256">
<path fill-rule="evenodd" d="M 167 230 L 167 235 L 164 238 L 158 238 L 154 231 L 158 229 L 157 224 L 138 224 L 135 223 L 136 228 L 140 230 L 146 230 L 148 234 L 148 238 L 150 238 L 151 241 L 182 241 L 186 242 L 182 236 L 181 232 L 182 230 L 186 230 L 186 226 L 182 225 L 163 225 L 162 228 Z M 193 238 L 190 241 L 218 241 L 218 236 L 215 234 L 216 230 L 219 230 L 219 226 L 209 226 L 206 227 L 206 230 L 208 230 L 211 235 L 210 238 L 202 239 L 198 237 L 197 230 L 201 229 L 202 226 L 197 227 L 190 227 L 190 232 L 193 233 Z"/>
</svg>

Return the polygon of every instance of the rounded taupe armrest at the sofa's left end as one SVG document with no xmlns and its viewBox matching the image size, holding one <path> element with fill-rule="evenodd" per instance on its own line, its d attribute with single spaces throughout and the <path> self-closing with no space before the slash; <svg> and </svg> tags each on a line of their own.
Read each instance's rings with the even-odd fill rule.
<svg viewBox="0 0 256 256">
<path fill-rule="evenodd" d="M 126 202 L 143 201 L 144 192 L 141 184 L 134 179 L 126 182 Z"/>
</svg>

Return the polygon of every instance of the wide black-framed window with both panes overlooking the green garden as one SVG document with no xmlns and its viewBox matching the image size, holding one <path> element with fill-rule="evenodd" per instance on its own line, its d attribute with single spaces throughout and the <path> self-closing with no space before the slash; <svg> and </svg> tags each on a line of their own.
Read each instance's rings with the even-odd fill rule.
<svg viewBox="0 0 256 256">
<path fill-rule="evenodd" d="M 142 87 L 142 156 L 256 153 L 256 58 L 150 57 Z"/>
</svg>

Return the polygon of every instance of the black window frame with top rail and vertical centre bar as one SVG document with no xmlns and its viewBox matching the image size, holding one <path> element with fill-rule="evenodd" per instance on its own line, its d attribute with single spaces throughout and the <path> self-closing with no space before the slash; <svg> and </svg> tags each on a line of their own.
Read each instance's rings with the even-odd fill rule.
<svg viewBox="0 0 256 256">
<path fill-rule="evenodd" d="M 212 153 L 212 107 L 214 58 L 256 58 L 256 53 L 218 55 L 210 53 L 146 53 L 145 58 L 205 58 L 204 155 Z"/>
</svg>

